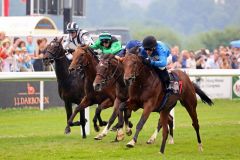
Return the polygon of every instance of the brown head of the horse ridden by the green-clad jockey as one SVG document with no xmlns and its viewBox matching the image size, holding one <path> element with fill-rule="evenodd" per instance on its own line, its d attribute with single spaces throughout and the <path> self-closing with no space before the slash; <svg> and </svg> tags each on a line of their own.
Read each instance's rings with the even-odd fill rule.
<svg viewBox="0 0 240 160">
<path fill-rule="evenodd" d="M 89 47 L 87 45 L 77 46 L 73 52 L 73 59 L 69 66 L 69 71 L 81 72 L 84 68 L 92 62 L 92 55 Z"/>
</svg>

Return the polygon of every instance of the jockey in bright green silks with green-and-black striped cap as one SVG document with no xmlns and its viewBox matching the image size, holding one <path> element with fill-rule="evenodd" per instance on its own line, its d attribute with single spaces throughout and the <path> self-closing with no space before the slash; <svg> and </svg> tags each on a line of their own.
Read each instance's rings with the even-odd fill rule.
<svg viewBox="0 0 240 160">
<path fill-rule="evenodd" d="M 100 49 L 103 54 L 117 54 L 122 50 L 122 44 L 110 33 L 103 32 L 96 42 L 90 46 L 92 49 Z"/>
</svg>

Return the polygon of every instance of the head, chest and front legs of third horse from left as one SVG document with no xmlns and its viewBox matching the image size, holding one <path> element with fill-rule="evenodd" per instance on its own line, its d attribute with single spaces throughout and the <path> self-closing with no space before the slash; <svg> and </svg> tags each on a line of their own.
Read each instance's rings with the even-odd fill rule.
<svg viewBox="0 0 240 160">
<path fill-rule="evenodd" d="M 108 125 L 105 127 L 102 133 L 100 133 L 95 139 L 102 139 L 107 135 L 111 125 L 113 124 L 113 119 L 116 118 L 116 113 L 119 115 L 118 130 L 116 140 L 122 140 L 124 134 L 122 128 L 124 125 L 123 114 L 124 111 L 124 121 L 126 127 L 127 135 L 131 135 L 132 124 L 129 123 L 128 118 L 131 116 L 130 113 L 127 113 L 126 110 L 126 101 L 128 99 L 128 86 L 124 83 L 123 79 L 123 65 L 118 61 L 114 55 L 107 54 L 101 57 L 101 61 L 97 65 L 97 73 L 93 83 L 94 89 L 96 91 L 101 91 L 106 87 L 115 87 L 116 88 L 116 99 L 114 101 L 114 110 L 113 115 L 110 118 Z M 120 110 L 121 111 L 120 111 Z M 130 126 L 130 127 L 129 127 Z"/>
</svg>

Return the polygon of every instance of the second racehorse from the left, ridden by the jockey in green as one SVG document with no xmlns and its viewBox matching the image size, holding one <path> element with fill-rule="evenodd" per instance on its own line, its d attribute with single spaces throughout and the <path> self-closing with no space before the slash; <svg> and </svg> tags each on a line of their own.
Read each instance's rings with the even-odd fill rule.
<svg viewBox="0 0 240 160">
<path fill-rule="evenodd" d="M 88 46 L 78 46 L 73 54 L 73 61 L 69 67 L 69 70 L 74 73 L 81 73 L 84 75 L 84 92 L 85 97 L 78 105 L 78 107 L 74 110 L 72 116 L 69 119 L 69 123 L 71 123 L 79 112 L 80 109 L 86 108 L 93 104 L 99 104 L 102 109 L 106 109 L 108 107 L 113 106 L 114 111 L 109 120 L 109 123 L 113 123 L 116 116 L 118 115 L 118 106 L 119 102 L 115 101 L 116 93 L 115 86 L 109 86 L 104 88 L 101 91 L 94 91 L 93 81 L 96 76 L 96 66 L 99 60 L 96 57 L 95 53 Z M 104 135 L 105 136 L 105 135 Z M 101 137 L 102 138 L 102 137 Z M 95 139 L 101 139 L 100 137 Z M 116 139 L 122 140 L 122 139 Z"/>
</svg>

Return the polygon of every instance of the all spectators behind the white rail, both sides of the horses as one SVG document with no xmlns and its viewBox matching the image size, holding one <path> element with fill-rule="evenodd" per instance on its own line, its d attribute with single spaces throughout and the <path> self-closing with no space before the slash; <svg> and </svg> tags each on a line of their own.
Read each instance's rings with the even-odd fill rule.
<svg viewBox="0 0 240 160">
<path fill-rule="evenodd" d="M 33 43 L 33 37 L 10 39 L 0 32 L 0 71 L 50 71 L 52 66 L 44 66 L 42 58 L 47 46 L 47 39 L 40 38 Z M 171 48 L 168 58 L 169 69 L 240 69 L 240 48 L 219 46 L 210 52 L 207 49 L 198 51 Z"/>
</svg>

